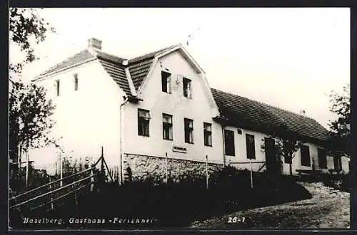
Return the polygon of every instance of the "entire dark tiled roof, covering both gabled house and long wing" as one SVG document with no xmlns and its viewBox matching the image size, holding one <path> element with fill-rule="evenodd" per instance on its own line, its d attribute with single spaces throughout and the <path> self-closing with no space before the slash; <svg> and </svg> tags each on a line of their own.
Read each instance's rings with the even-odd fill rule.
<svg viewBox="0 0 357 235">
<path fill-rule="evenodd" d="M 131 91 L 129 80 L 132 81 L 135 90 L 139 90 L 151 66 L 153 66 L 155 58 L 174 48 L 181 48 L 181 45 L 169 46 L 129 60 L 104 53 L 103 51 L 85 49 L 56 66 L 49 68 L 49 70 L 41 73 L 34 80 L 97 59 L 111 78 L 124 90 L 126 95 L 132 96 L 134 94 Z M 193 58 L 191 59 L 193 60 Z M 123 63 L 124 61 L 128 61 L 128 63 Z M 129 75 L 127 73 L 128 70 Z M 291 113 L 281 108 L 213 88 L 211 88 L 211 93 L 218 105 L 221 117 L 226 118 L 231 125 L 266 133 L 284 127 L 296 133 L 296 135 L 309 137 L 318 141 L 325 141 L 328 136 L 328 131 L 310 117 Z"/>
</svg>

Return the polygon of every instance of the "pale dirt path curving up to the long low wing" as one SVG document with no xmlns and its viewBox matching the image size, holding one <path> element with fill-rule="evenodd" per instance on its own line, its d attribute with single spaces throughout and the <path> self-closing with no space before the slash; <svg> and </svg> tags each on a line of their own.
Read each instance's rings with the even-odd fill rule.
<svg viewBox="0 0 357 235">
<path fill-rule="evenodd" d="M 321 183 L 300 183 L 312 194 L 311 199 L 272 207 L 238 211 L 226 216 L 196 221 L 191 228 L 201 229 L 302 229 L 348 228 L 350 194 Z"/>
</svg>

